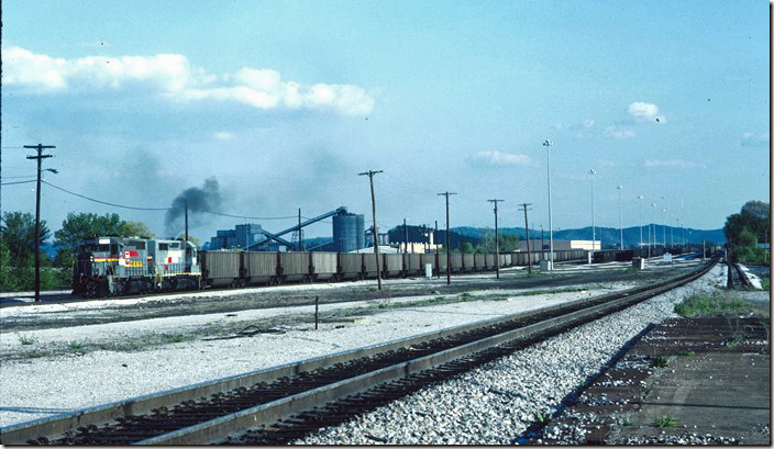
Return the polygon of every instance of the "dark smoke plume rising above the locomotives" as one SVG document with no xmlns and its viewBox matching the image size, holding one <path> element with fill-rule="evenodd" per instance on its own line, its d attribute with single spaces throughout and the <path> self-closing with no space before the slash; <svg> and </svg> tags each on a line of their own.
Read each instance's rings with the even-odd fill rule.
<svg viewBox="0 0 774 449">
<path fill-rule="evenodd" d="M 204 180 L 202 188 L 191 187 L 177 195 L 164 217 L 167 233 L 175 237 L 185 228 L 186 201 L 188 201 L 188 227 L 201 225 L 209 215 L 206 211 L 217 212 L 221 205 L 220 188 L 215 178 Z"/>
</svg>

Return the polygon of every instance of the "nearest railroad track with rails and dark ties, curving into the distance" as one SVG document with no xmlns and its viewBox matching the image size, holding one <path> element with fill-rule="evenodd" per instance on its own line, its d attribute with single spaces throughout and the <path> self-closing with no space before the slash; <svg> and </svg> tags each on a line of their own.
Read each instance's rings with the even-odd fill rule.
<svg viewBox="0 0 774 449">
<path fill-rule="evenodd" d="M 0 428 L 0 442 L 280 444 L 685 284 L 693 273 Z"/>
</svg>

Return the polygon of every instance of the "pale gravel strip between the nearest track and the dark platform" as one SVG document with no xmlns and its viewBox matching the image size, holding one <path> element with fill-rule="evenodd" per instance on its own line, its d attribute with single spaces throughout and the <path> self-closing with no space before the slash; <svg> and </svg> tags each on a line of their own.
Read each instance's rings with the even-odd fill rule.
<svg viewBox="0 0 774 449">
<path fill-rule="evenodd" d="M 649 323 L 676 316 L 675 304 L 707 293 L 719 268 L 690 284 L 517 351 L 441 384 L 423 389 L 296 444 L 513 445 L 535 419 Z M 376 438 L 372 438 L 376 437 Z"/>
</svg>

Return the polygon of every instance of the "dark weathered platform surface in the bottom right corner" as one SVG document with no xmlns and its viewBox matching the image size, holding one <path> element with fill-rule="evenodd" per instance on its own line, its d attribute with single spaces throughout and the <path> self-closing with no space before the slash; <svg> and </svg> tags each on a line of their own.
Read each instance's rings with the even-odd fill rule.
<svg viewBox="0 0 774 449">
<path fill-rule="evenodd" d="M 566 397 L 534 440 L 771 446 L 770 338 L 769 318 L 666 321 Z"/>
</svg>

